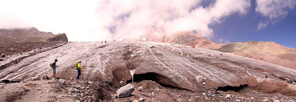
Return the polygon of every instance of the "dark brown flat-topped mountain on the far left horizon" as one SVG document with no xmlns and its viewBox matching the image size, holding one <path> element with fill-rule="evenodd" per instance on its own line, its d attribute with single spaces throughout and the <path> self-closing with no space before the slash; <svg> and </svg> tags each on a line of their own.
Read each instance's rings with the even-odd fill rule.
<svg viewBox="0 0 296 102">
<path fill-rule="evenodd" d="M 52 34 L 51 32 L 40 32 L 37 28 L 0 29 L 1 44 L 19 42 L 44 42 L 44 41 L 66 41 L 66 34 Z"/>
</svg>

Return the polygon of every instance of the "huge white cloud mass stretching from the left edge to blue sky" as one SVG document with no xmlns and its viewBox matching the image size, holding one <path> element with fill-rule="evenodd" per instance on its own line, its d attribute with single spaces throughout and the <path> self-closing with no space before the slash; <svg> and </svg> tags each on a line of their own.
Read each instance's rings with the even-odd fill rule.
<svg viewBox="0 0 296 102">
<path fill-rule="evenodd" d="M 209 24 L 231 14 L 246 14 L 250 0 L 217 0 L 208 7 L 201 0 L 2 1 L 0 28 L 34 26 L 40 31 L 66 33 L 69 41 L 139 39 L 155 24 L 155 36 L 197 31 L 211 38 Z M 195 8 L 191 10 L 192 8 Z M 113 30 L 110 32 L 110 28 Z"/>
</svg>

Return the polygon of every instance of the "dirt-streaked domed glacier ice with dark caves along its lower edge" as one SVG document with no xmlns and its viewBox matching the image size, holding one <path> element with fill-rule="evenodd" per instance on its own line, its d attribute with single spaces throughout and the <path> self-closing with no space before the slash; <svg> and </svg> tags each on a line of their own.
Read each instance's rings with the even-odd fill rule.
<svg viewBox="0 0 296 102">
<path fill-rule="evenodd" d="M 193 91 L 199 86 L 194 82 L 198 75 L 207 78 L 207 87 L 214 88 L 247 84 L 248 75 L 268 74 L 276 80 L 296 77 L 293 69 L 209 49 L 148 41 L 109 41 L 71 42 L 37 53 L 1 69 L 0 79 L 30 80 L 43 74 L 51 77 L 49 64 L 54 59 L 58 59 L 56 76 L 63 78 L 74 79 L 75 63 L 82 60 L 82 79 L 109 82 L 146 79 Z"/>
</svg>

